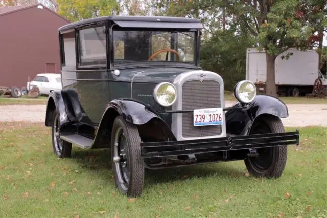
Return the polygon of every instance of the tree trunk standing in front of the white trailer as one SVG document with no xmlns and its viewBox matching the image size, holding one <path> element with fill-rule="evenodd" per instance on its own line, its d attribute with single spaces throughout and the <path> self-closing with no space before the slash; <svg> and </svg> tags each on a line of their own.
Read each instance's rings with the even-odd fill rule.
<svg viewBox="0 0 327 218">
<path fill-rule="evenodd" d="M 266 52 L 267 61 L 267 80 L 266 80 L 266 94 L 277 97 L 276 82 L 275 82 L 275 59 L 276 55 L 270 55 Z"/>
</svg>

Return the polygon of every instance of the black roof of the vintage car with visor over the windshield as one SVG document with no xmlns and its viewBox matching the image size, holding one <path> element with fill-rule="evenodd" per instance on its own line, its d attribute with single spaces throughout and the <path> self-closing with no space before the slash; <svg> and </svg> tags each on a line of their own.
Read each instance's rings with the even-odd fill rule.
<svg viewBox="0 0 327 218">
<path fill-rule="evenodd" d="M 72 30 L 92 23 L 113 21 L 120 27 L 133 28 L 180 28 L 180 29 L 202 29 L 200 19 L 170 17 L 170 16 L 102 16 L 89 18 L 64 25 L 59 31 Z"/>
</svg>

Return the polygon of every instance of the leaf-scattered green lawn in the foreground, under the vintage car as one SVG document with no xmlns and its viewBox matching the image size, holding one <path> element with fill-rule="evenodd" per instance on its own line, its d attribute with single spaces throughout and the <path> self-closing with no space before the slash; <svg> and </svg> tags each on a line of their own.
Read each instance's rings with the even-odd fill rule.
<svg viewBox="0 0 327 218">
<path fill-rule="evenodd" d="M 108 150 L 57 159 L 49 128 L 0 123 L 0 217 L 327 217 L 327 128 L 300 133 L 279 179 L 248 176 L 243 161 L 146 171 L 129 199 Z"/>
</svg>

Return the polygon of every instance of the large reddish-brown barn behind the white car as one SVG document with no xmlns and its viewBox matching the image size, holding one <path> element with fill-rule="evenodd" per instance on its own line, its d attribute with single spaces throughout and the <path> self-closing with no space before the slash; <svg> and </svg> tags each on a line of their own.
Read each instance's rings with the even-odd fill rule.
<svg viewBox="0 0 327 218">
<path fill-rule="evenodd" d="M 42 4 L 0 8 L 0 86 L 60 73 L 58 28 L 68 23 Z"/>
</svg>

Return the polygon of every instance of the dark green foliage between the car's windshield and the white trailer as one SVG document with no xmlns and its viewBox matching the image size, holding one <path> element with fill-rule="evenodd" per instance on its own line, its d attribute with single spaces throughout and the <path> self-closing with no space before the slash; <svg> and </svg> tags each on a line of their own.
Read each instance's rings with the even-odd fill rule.
<svg viewBox="0 0 327 218">
<path fill-rule="evenodd" d="M 246 49 L 255 45 L 250 35 L 233 31 L 217 31 L 209 40 L 201 44 L 201 67 L 223 77 L 226 90 L 245 79 Z"/>
</svg>

